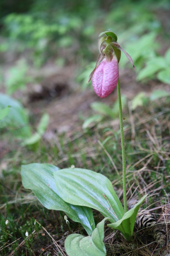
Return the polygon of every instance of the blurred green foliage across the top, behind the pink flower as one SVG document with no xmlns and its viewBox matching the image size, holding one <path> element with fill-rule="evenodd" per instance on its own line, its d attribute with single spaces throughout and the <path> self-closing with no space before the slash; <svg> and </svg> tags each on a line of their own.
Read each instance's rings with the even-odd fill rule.
<svg viewBox="0 0 170 256">
<path fill-rule="evenodd" d="M 170 84 L 169 17 L 169 0 L 1 0 L 0 90 L 13 96 L 36 84 L 30 68 L 48 63 L 75 65 L 75 82 L 82 89 L 91 86 L 86 82 L 98 55 L 97 38 L 107 29 L 132 56 L 137 81 Z M 124 54 L 119 68 L 132 68 Z"/>
</svg>

